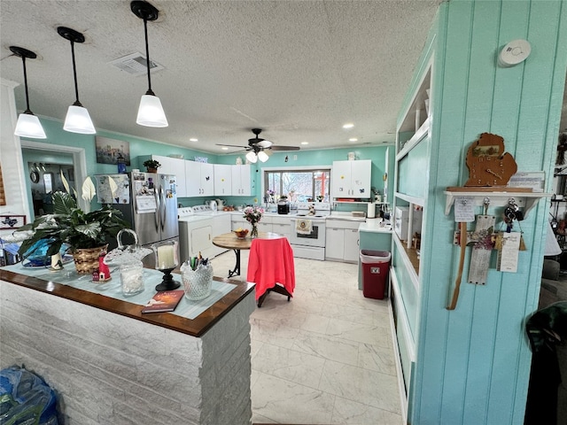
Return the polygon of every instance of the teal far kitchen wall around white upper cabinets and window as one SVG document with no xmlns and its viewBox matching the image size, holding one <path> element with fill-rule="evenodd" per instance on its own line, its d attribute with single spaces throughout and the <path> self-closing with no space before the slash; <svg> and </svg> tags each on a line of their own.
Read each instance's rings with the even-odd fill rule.
<svg viewBox="0 0 567 425">
<path fill-rule="evenodd" d="M 84 148 L 87 158 L 87 174 L 89 176 L 117 172 L 117 166 L 115 165 L 97 164 L 95 135 L 78 135 L 66 132 L 63 130 L 63 123 L 59 120 L 50 120 L 47 118 L 41 118 L 40 120 L 42 121 L 45 134 L 47 135 L 47 140 L 42 142 Z M 236 164 L 237 157 L 240 157 L 243 161 L 245 161 L 245 155 L 243 153 L 237 155 L 214 155 L 203 151 L 185 149 L 180 146 L 160 143 L 159 141 L 142 139 L 131 135 L 123 135 L 99 129 L 97 129 L 97 135 L 129 143 L 131 166 L 127 167 L 128 171 L 132 168 L 144 170 L 145 167 L 142 166 L 144 158 L 148 158 L 151 154 L 166 157 L 169 155 L 182 154 L 185 159 L 192 159 L 195 156 L 206 157 L 208 158 L 209 163 L 212 164 Z M 386 170 L 384 170 L 386 146 L 323 149 L 316 151 L 278 151 L 274 152 L 266 163 L 260 163 L 259 161 L 256 164 L 252 164 L 252 196 L 226 197 L 225 200 L 227 201 L 227 205 L 248 205 L 261 202 L 260 171 L 263 166 L 281 166 L 290 168 L 293 168 L 294 166 L 331 166 L 333 161 L 346 160 L 347 153 L 351 151 L 356 153 L 356 157 L 358 159 L 372 159 L 372 186 L 382 192 L 384 187 L 382 175 L 386 172 Z M 297 159 L 295 159 L 296 155 Z M 284 160 L 286 156 L 288 157 L 288 162 L 285 162 Z M 28 159 L 25 156 L 24 162 L 27 162 L 27 160 Z M 79 182 L 79 184 L 81 183 L 82 182 Z M 390 188 L 390 192 L 392 193 L 392 187 Z M 183 206 L 201 205 L 212 198 L 213 197 L 184 197 L 180 198 L 179 202 Z M 392 194 L 390 195 L 390 199 L 391 198 Z M 99 207 L 95 201 L 93 201 L 91 206 L 92 208 Z M 31 211 L 33 211 L 33 209 Z"/>
</svg>

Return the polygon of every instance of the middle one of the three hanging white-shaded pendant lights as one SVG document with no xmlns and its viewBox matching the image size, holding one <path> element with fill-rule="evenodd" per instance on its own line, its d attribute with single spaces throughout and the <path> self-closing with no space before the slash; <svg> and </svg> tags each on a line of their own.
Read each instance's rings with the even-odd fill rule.
<svg viewBox="0 0 567 425">
<path fill-rule="evenodd" d="M 58 27 L 58 35 L 71 42 L 71 57 L 73 58 L 73 76 L 74 76 L 74 96 L 76 98 L 74 104 L 69 106 L 63 129 L 71 133 L 80 133 L 82 135 L 94 135 L 97 133 L 95 126 L 90 120 L 89 111 L 79 102 L 79 89 L 77 86 L 77 67 L 74 63 L 74 43 L 85 42 L 85 37 L 80 32 L 67 27 Z"/>
</svg>

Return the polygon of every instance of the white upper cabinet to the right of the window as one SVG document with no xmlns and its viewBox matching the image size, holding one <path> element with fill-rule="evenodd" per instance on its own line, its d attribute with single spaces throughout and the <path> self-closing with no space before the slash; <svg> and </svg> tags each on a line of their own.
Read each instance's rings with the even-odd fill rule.
<svg viewBox="0 0 567 425">
<path fill-rule="evenodd" d="M 372 161 L 334 161 L 330 174 L 332 197 L 371 197 L 370 176 Z"/>
</svg>

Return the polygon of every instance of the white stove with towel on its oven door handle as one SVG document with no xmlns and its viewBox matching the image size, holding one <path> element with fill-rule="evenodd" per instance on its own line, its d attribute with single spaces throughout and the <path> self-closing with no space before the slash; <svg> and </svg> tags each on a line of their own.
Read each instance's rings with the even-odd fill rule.
<svg viewBox="0 0 567 425">
<path fill-rule="evenodd" d="M 291 218 L 290 243 L 293 256 L 300 259 L 325 259 L 325 220 L 330 215 L 327 202 L 300 202 Z"/>
</svg>

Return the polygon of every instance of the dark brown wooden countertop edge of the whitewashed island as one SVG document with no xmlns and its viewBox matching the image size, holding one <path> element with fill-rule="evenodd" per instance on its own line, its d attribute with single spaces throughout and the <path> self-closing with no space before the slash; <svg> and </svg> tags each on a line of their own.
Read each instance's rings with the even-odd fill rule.
<svg viewBox="0 0 567 425">
<path fill-rule="evenodd" d="M 203 336 L 209 328 L 214 326 L 214 323 L 219 321 L 226 313 L 229 313 L 229 311 L 245 298 L 255 286 L 254 283 L 240 282 L 215 276 L 215 281 L 232 283 L 237 287 L 214 303 L 214 305 L 207 308 L 204 313 L 199 314 L 197 318 L 190 320 L 172 313 L 142 314 L 141 305 L 128 303 L 128 301 L 122 301 L 116 298 L 105 297 L 104 295 L 89 292 L 88 290 L 79 290 L 59 283 L 44 281 L 43 279 L 14 273 L 4 269 L 0 269 L 0 280 L 197 337 Z"/>
</svg>

